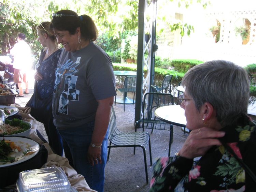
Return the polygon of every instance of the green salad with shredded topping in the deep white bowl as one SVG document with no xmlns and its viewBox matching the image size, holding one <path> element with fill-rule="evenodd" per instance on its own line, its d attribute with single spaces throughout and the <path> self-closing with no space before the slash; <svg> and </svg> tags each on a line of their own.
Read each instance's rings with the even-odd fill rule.
<svg viewBox="0 0 256 192">
<path fill-rule="evenodd" d="M 30 125 L 22 120 L 15 118 L 12 120 L 5 119 L 5 123 L 0 125 L 0 134 L 12 135 L 27 131 L 28 129 L 30 129 Z"/>
</svg>

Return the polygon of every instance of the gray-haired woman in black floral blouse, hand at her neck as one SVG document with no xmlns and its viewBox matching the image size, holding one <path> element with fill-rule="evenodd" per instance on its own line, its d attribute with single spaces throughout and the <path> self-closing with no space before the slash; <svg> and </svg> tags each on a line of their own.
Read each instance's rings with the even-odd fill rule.
<svg viewBox="0 0 256 192">
<path fill-rule="evenodd" d="M 254 191 L 256 133 L 247 116 L 245 70 L 229 61 L 208 61 L 190 69 L 182 85 L 181 107 L 191 132 L 174 158 L 157 160 L 150 191 Z"/>
</svg>

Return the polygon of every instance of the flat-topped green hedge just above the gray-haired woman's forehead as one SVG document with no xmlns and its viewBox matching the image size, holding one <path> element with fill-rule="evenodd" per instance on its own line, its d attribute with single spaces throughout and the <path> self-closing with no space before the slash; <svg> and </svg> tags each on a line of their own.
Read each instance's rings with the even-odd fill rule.
<svg viewBox="0 0 256 192">
<path fill-rule="evenodd" d="M 173 59 L 170 64 L 175 71 L 186 73 L 189 69 L 200 63 L 203 63 L 203 61 L 196 59 Z"/>
</svg>

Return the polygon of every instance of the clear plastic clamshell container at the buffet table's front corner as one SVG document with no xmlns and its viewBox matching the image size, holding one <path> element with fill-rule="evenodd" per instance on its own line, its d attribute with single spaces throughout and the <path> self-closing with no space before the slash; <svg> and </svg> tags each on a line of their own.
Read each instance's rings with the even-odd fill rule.
<svg viewBox="0 0 256 192">
<path fill-rule="evenodd" d="M 39 191 L 46 188 L 70 186 L 66 174 L 59 167 L 47 167 L 19 173 L 19 192 Z"/>
</svg>

